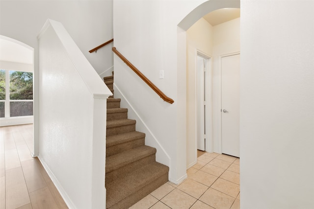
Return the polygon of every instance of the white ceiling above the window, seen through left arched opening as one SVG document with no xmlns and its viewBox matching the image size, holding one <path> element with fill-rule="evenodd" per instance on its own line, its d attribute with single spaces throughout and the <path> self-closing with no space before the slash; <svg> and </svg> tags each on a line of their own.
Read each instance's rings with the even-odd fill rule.
<svg viewBox="0 0 314 209">
<path fill-rule="evenodd" d="M 0 61 L 33 63 L 33 50 L 9 39 L 0 38 Z"/>
</svg>

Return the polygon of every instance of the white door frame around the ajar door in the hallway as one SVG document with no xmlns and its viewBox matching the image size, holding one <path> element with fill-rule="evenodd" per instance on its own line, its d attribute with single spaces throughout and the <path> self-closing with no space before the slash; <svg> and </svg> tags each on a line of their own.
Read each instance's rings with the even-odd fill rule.
<svg viewBox="0 0 314 209">
<path fill-rule="evenodd" d="M 199 49 L 196 49 L 195 53 L 195 96 L 197 95 L 197 56 L 203 57 L 206 60 L 206 74 L 205 74 L 205 89 L 208 90 L 205 93 L 206 109 L 205 109 L 205 151 L 212 152 L 213 150 L 213 138 L 212 138 L 212 57 Z M 195 99 L 195 147 L 197 149 L 197 127 L 198 127 L 198 115 L 197 115 L 198 101 Z M 209 133 L 209 134 L 208 134 Z M 197 159 L 197 152 L 196 152 Z"/>
</svg>

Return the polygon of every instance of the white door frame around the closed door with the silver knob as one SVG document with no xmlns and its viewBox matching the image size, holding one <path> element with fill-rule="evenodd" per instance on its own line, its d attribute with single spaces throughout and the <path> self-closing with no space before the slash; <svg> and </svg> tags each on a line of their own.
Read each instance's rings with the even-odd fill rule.
<svg viewBox="0 0 314 209">
<path fill-rule="evenodd" d="M 227 53 L 227 54 L 221 54 L 218 55 L 218 107 L 220 108 L 220 113 L 219 113 L 219 117 L 218 117 L 218 152 L 221 154 L 222 153 L 222 112 L 221 112 L 221 99 L 222 99 L 222 58 L 223 57 L 229 57 L 229 56 L 233 56 L 233 55 L 237 55 L 240 54 L 240 51 L 235 51 L 232 53 Z M 241 69 L 240 69 L 241 70 Z M 218 110 L 219 111 L 219 110 Z"/>
</svg>

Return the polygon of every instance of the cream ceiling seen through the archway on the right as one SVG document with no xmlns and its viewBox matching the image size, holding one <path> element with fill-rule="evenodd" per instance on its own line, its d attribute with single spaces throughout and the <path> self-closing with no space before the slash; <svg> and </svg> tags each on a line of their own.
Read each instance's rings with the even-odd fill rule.
<svg viewBox="0 0 314 209">
<path fill-rule="evenodd" d="M 225 23 L 240 17 L 239 8 L 217 9 L 205 15 L 203 18 L 212 26 Z"/>
</svg>

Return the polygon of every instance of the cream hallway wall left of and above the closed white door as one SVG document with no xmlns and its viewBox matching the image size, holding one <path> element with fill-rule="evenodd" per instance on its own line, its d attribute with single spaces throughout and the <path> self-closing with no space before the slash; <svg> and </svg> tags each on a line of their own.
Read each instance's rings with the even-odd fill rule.
<svg viewBox="0 0 314 209">
<path fill-rule="evenodd" d="M 240 52 L 240 18 L 213 27 L 213 152 L 221 153 L 221 56 Z"/>
</svg>

